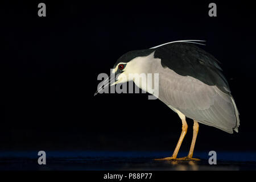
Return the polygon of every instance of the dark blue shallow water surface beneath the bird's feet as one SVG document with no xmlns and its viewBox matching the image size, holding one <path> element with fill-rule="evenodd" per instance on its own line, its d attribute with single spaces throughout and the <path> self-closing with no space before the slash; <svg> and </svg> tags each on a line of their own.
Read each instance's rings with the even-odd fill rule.
<svg viewBox="0 0 256 182">
<path fill-rule="evenodd" d="M 154 160 L 171 152 L 151 151 L 46 151 L 46 165 L 38 164 L 38 151 L 0 152 L 0 170 L 256 170 L 256 152 L 220 151 L 217 164 L 208 152 L 195 152 L 193 161 Z M 187 152 L 180 152 L 179 157 Z"/>
</svg>

